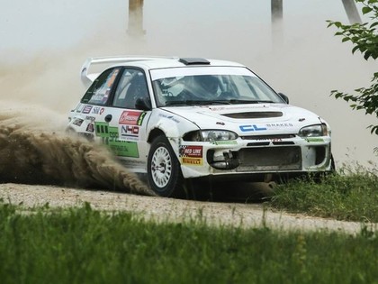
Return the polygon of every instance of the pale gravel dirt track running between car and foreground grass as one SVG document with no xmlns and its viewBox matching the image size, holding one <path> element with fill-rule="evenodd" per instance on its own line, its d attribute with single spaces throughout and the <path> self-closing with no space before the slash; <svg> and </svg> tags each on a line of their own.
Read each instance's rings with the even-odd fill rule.
<svg viewBox="0 0 378 284">
<path fill-rule="evenodd" d="M 361 225 L 306 215 L 274 212 L 264 204 L 223 203 L 179 200 L 163 197 L 146 197 L 127 193 L 101 190 L 1 184 L 0 198 L 14 205 L 25 207 L 81 206 L 89 202 L 98 210 L 121 210 L 132 212 L 143 218 L 159 221 L 182 222 L 202 218 L 208 224 L 225 224 L 243 227 L 261 227 L 284 230 L 323 230 L 358 234 Z M 374 224 L 374 230 L 377 225 Z"/>
</svg>

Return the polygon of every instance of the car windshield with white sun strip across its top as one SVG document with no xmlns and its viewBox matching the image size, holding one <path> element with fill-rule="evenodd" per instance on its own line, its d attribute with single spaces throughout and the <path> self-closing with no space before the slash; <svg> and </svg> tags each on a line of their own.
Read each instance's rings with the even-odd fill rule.
<svg viewBox="0 0 378 284">
<path fill-rule="evenodd" d="M 246 68 L 158 69 L 151 77 L 157 106 L 284 103 Z"/>
</svg>

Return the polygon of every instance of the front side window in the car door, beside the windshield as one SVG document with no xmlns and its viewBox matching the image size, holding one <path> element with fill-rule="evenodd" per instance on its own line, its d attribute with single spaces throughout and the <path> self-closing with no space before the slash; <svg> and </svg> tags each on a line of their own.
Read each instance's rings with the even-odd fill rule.
<svg viewBox="0 0 378 284">
<path fill-rule="evenodd" d="M 112 105 L 135 109 L 137 99 L 142 97 L 148 97 L 146 76 L 139 69 L 124 69 Z"/>
</svg>

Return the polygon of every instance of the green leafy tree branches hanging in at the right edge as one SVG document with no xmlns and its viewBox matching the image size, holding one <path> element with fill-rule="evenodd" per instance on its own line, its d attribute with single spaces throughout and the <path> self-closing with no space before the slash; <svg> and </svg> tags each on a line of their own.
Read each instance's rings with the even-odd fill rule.
<svg viewBox="0 0 378 284">
<path fill-rule="evenodd" d="M 365 60 L 378 58 L 378 0 L 355 0 L 361 3 L 362 13 L 369 16 L 371 23 L 343 24 L 327 21 L 328 27 L 335 26 L 338 32 L 335 35 L 342 36 L 342 42 L 351 41 L 354 45 L 352 53 L 361 52 Z M 353 109 L 365 110 L 365 115 L 375 115 L 378 118 L 378 72 L 374 73 L 370 87 L 356 88 L 356 94 L 347 94 L 338 90 L 331 91 L 331 96 L 342 98 Z M 371 133 L 378 135 L 378 124 L 370 125 Z"/>
</svg>

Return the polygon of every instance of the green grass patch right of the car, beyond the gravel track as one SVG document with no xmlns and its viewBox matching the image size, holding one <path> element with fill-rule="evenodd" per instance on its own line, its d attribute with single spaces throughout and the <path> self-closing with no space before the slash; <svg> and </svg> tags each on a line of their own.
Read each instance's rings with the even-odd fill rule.
<svg viewBox="0 0 378 284">
<path fill-rule="evenodd" d="M 378 176 L 373 170 L 344 167 L 320 181 L 293 180 L 275 188 L 270 205 L 290 212 L 378 223 Z"/>
</svg>

